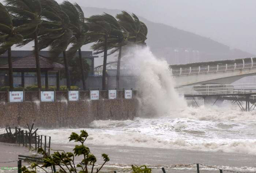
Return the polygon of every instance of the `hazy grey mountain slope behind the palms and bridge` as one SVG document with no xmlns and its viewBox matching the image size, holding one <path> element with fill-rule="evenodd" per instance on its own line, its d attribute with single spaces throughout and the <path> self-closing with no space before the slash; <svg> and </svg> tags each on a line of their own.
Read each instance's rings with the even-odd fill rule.
<svg viewBox="0 0 256 173">
<path fill-rule="evenodd" d="M 121 10 L 95 7 L 83 7 L 83 10 L 85 16 L 103 12 L 115 16 L 121 12 Z M 230 49 L 227 45 L 210 38 L 139 18 L 148 27 L 147 45 L 157 57 L 167 59 L 170 64 L 254 56 L 239 49 Z"/>
</svg>

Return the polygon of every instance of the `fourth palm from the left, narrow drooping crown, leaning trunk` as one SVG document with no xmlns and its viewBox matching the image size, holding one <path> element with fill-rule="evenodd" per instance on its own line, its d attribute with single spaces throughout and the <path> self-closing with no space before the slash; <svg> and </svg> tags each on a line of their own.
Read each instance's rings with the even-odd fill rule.
<svg viewBox="0 0 256 173">
<path fill-rule="evenodd" d="M 79 64 L 82 74 L 83 89 L 85 90 L 85 74 L 84 74 L 84 59 L 82 58 L 81 47 L 85 44 L 85 33 L 88 32 L 88 26 L 85 23 L 84 12 L 81 7 L 75 3 L 64 1 L 61 4 L 62 10 L 69 16 L 70 28 L 73 31 L 72 45 L 67 51 L 67 56 L 73 57 L 78 50 Z"/>
</svg>

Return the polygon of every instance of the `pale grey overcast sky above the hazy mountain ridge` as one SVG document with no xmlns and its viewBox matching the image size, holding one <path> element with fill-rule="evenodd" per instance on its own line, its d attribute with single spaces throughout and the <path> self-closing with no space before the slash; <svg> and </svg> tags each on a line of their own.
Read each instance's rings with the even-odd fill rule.
<svg viewBox="0 0 256 173">
<path fill-rule="evenodd" d="M 231 48 L 256 54 L 256 0 L 70 1 L 84 7 L 127 10 L 150 21 L 210 37 Z"/>
</svg>

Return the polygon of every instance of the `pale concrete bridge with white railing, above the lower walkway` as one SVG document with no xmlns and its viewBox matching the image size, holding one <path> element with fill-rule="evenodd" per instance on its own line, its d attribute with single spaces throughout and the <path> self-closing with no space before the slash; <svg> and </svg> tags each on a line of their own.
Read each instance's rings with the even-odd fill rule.
<svg viewBox="0 0 256 173">
<path fill-rule="evenodd" d="M 256 75 L 256 58 L 170 65 L 176 86 L 231 84 Z"/>
</svg>

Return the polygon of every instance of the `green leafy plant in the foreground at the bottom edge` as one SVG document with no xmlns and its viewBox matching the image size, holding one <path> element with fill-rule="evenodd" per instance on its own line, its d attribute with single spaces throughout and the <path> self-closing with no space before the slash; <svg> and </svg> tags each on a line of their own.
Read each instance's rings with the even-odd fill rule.
<svg viewBox="0 0 256 173">
<path fill-rule="evenodd" d="M 91 154 L 89 148 L 84 145 L 85 140 L 88 137 L 88 133 L 85 130 L 80 131 L 80 135 L 77 133 L 72 133 L 69 137 L 69 141 L 75 141 L 79 142 L 79 145 L 76 145 L 73 149 L 74 153 L 72 152 L 65 152 L 63 150 L 57 150 L 52 155 L 47 155 L 43 148 L 39 148 L 37 152 L 44 155 L 43 159 L 43 165 L 39 166 L 37 163 L 32 163 L 30 165 L 29 169 L 25 166 L 22 167 L 23 173 L 36 173 L 37 168 L 43 169 L 46 173 L 47 170 L 45 168 L 51 168 L 51 173 L 53 172 L 53 166 L 57 169 L 59 173 L 88 173 L 88 166 L 92 165 L 90 172 L 91 173 L 98 173 L 102 167 L 105 165 L 106 162 L 109 161 L 109 157 L 107 154 L 102 154 L 103 157 L 103 163 L 102 165 L 95 170 L 94 172 L 94 166 L 97 162 L 96 157 Z M 60 152 L 61 151 L 61 152 Z M 83 159 L 80 162 L 80 164 L 75 165 L 74 164 L 74 158 L 76 156 L 83 155 Z"/>
</svg>

